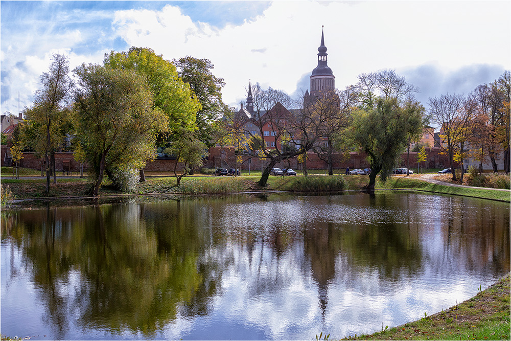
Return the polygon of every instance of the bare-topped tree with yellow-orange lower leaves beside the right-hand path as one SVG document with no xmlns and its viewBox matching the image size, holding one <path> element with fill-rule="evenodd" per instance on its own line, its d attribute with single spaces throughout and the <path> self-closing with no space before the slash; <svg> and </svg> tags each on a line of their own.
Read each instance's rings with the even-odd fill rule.
<svg viewBox="0 0 511 341">
<path fill-rule="evenodd" d="M 428 105 L 433 122 L 440 126 L 440 150 L 447 154 L 449 166 L 454 169 L 454 156 L 457 152 L 462 156 L 464 152 L 463 143 L 467 141 L 472 110 L 466 106 L 463 95 L 455 94 L 429 98 Z M 452 179 L 456 181 L 456 172 L 452 172 Z"/>
</svg>

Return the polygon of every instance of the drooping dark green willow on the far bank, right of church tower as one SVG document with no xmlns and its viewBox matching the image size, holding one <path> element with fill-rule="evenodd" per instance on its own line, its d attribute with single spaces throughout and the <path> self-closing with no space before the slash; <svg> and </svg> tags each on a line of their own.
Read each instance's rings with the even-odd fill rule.
<svg viewBox="0 0 511 341">
<path fill-rule="evenodd" d="M 375 106 L 354 111 L 352 139 L 367 154 L 371 173 L 368 190 L 376 176 L 385 182 L 405 150 L 407 135 L 422 124 L 424 108 L 418 102 L 400 105 L 397 98 L 378 98 Z"/>
</svg>

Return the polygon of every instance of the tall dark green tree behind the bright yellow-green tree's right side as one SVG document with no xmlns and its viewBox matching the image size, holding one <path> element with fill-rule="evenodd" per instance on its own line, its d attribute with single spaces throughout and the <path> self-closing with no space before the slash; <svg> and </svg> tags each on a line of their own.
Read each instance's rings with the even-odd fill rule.
<svg viewBox="0 0 511 341">
<path fill-rule="evenodd" d="M 195 97 L 199 100 L 201 108 L 197 111 L 195 123 L 198 131 L 196 135 L 208 147 L 212 147 L 214 131 L 218 128 L 218 119 L 221 118 L 228 107 L 222 101 L 222 87 L 225 86 L 223 78 L 213 75 L 213 63 L 209 59 L 197 59 L 191 56 L 173 60 L 178 67 L 178 75 L 184 83 L 190 84 Z"/>
</svg>

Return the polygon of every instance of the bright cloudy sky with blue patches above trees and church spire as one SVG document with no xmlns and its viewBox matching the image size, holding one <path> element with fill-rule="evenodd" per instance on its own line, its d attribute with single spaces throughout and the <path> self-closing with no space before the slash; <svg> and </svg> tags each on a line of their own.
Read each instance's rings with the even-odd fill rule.
<svg viewBox="0 0 511 341">
<path fill-rule="evenodd" d="M 392 69 L 427 108 L 511 69 L 510 13 L 509 1 L 1 1 L 1 111 L 32 105 L 54 53 L 74 69 L 132 46 L 211 60 L 238 109 L 249 81 L 295 98 L 309 89 L 322 26 L 337 88 Z"/>
</svg>

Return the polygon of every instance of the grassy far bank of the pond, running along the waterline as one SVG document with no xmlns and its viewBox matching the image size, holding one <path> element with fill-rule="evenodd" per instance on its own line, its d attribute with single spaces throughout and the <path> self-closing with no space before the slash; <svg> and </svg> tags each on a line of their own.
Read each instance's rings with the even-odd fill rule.
<svg viewBox="0 0 511 341">
<path fill-rule="evenodd" d="M 180 186 L 176 179 L 169 176 L 147 177 L 145 183 L 138 184 L 131 194 L 223 194 L 247 191 L 291 191 L 291 192 L 336 192 L 343 190 L 360 190 L 368 183 L 367 175 L 334 175 L 334 176 L 270 176 L 267 186 L 257 186 L 259 177 L 229 176 L 216 177 L 211 175 L 184 177 Z M 44 198 L 44 197 L 74 197 L 86 195 L 90 184 L 85 178 L 60 178 L 57 184 L 50 185 L 50 193 L 45 195 L 44 179 L 4 179 L 2 187 L 9 186 L 12 197 L 16 199 Z M 508 191 L 491 189 L 454 187 L 442 184 L 432 184 L 427 181 L 408 177 L 392 176 L 385 184 L 377 182 L 377 190 L 421 190 L 432 193 L 454 194 L 477 198 L 511 201 Z M 119 191 L 105 184 L 100 189 L 100 196 L 120 195 Z"/>
</svg>

